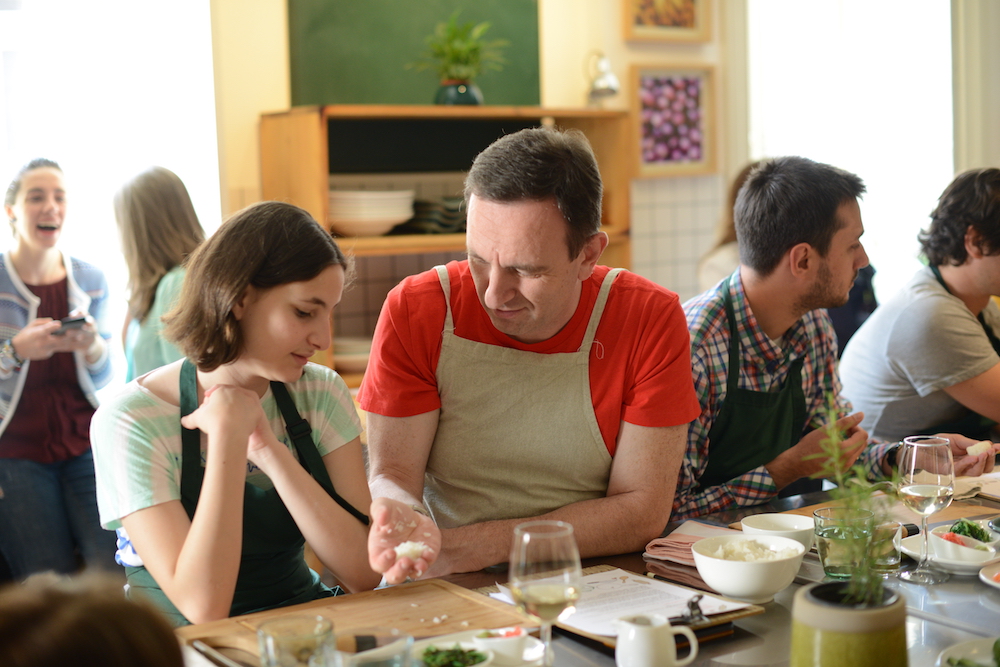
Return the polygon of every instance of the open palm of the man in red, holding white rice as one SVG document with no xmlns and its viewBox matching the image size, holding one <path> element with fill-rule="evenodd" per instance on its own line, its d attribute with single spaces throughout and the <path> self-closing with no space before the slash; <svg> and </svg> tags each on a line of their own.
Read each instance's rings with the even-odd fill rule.
<svg viewBox="0 0 1000 667">
<path fill-rule="evenodd" d="M 418 579 L 441 551 L 441 531 L 429 516 L 409 505 L 389 498 L 376 498 L 371 505 L 371 530 L 368 533 L 368 562 L 385 575 L 390 584 Z M 396 547 L 404 542 L 422 542 L 423 554 L 417 559 L 396 557 Z"/>
</svg>

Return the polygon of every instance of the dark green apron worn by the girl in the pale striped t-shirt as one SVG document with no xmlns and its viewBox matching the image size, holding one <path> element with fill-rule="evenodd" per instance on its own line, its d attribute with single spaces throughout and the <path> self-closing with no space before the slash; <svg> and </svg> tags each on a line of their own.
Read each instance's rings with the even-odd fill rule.
<svg viewBox="0 0 1000 667">
<path fill-rule="evenodd" d="M 348 511 L 367 524 L 368 518 L 334 491 L 323 459 L 309 435 L 309 424 L 299 416 L 285 385 L 272 382 L 271 391 L 303 467 L 338 504 L 349 508 Z M 197 374 L 194 365 L 187 360 L 181 367 L 180 402 L 181 416 L 191 414 L 198 407 Z M 201 431 L 182 427 L 181 447 L 181 503 L 188 517 L 193 519 L 205 476 L 205 468 L 201 465 Z M 229 615 L 249 614 L 340 594 L 339 587 L 331 590 L 306 565 L 303 557 L 305 539 L 278 491 L 273 487 L 264 491 L 247 482 L 243 494 L 243 551 Z M 145 567 L 126 567 L 125 571 L 130 597 L 151 600 L 175 625 L 189 623 Z"/>
</svg>

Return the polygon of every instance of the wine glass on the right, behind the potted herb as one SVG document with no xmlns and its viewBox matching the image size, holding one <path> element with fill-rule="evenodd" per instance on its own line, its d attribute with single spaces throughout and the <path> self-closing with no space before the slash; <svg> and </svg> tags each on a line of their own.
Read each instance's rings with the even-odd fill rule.
<svg viewBox="0 0 1000 667">
<path fill-rule="evenodd" d="M 917 569 L 902 572 L 900 579 L 914 584 L 940 584 L 947 572 L 931 569 L 927 544 L 927 518 L 951 504 L 955 493 L 955 463 L 947 438 L 913 435 L 903 438 L 899 453 L 899 496 L 909 509 L 920 515 L 920 547 Z"/>
</svg>

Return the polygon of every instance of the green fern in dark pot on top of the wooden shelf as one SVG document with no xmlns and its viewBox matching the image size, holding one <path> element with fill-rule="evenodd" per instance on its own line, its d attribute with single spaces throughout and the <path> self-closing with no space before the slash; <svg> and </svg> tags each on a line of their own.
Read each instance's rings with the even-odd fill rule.
<svg viewBox="0 0 1000 667">
<path fill-rule="evenodd" d="M 425 40 L 427 51 L 407 67 L 437 72 L 441 86 L 435 104 L 482 104 L 483 94 L 474 81 L 484 72 L 503 69 L 507 61 L 502 49 L 508 42 L 483 39 L 489 22 L 459 23 L 458 14 L 456 10 L 447 22 L 437 25 Z"/>
</svg>

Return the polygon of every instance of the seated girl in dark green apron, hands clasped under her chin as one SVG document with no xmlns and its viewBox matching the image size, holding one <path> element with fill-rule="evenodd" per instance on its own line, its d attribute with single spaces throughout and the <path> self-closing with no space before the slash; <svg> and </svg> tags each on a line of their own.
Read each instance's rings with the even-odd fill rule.
<svg viewBox="0 0 1000 667">
<path fill-rule="evenodd" d="M 305 540 L 358 591 L 378 584 L 376 556 L 415 539 L 413 508 L 371 502 L 344 381 L 309 363 L 330 346 L 347 269 L 304 210 L 239 211 L 191 255 L 164 317 L 185 359 L 139 376 L 94 418 L 101 520 L 118 531 L 128 594 L 175 624 L 336 594 L 306 565 Z"/>
</svg>

